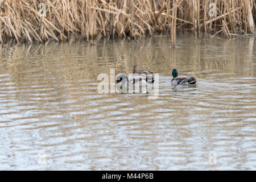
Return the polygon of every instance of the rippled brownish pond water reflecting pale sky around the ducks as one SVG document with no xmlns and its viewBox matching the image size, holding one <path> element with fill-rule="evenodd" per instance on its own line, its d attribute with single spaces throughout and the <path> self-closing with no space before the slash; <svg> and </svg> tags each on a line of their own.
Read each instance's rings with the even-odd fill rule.
<svg viewBox="0 0 256 182">
<path fill-rule="evenodd" d="M 254 38 L 96 44 L 0 48 L 0 169 L 256 169 Z M 134 64 L 159 73 L 156 100 L 97 92 Z M 173 68 L 196 86 L 171 86 Z"/>
</svg>

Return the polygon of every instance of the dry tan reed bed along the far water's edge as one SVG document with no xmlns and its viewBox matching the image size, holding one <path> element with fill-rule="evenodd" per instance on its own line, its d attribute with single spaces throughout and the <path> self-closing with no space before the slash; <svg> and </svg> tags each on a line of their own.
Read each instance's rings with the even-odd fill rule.
<svg viewBox="0 0 256 182">
<path fill-rule="evenodd" d="M 213 2 L 216 16 L 209 16 Z M 254 0 L 0 0 L 0 10 L 0 43 L 168 32 L 175 44 L 176 30 L 238 36 L 254 33 L 256 20 Z"/>
</svg>

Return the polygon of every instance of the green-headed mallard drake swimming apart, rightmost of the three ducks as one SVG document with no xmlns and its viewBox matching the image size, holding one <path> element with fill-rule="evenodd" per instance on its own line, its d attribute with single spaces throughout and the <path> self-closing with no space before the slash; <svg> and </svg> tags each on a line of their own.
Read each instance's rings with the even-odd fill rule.
<svg viewBox="0 0 256 182">
<path fill-rule="evenodd" d="M 172 85 L 189 85 L 195 84 L 196 79 L 191 76 L 177 76 L 177 69 L 172 69 Z"/>
</svg>

